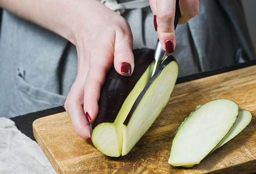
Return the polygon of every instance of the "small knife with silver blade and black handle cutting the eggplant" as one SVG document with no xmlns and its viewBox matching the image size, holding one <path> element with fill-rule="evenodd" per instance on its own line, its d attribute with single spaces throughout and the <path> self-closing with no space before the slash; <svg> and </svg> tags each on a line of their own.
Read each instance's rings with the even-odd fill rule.
<svg viewBox="0 0 256 174">
<path fill-rule="evenodd" d="M 176 29 L 177 24 L 179 22 L 179 18 L 180 18 L 180 5 L 179 5 L 179 3 L 180 3 L 180 0 L 176 0 L 175 17 L 174 17 L 174 30 Z M 152 76 L 155 74 L 156 69 L 159 66 L 159 62 L 161 60 L 163 60 L 165 56 L 166 56 L 166 51 L 163 49 L 163 47 L 161 46 L 161 44 L 159 42 L 159 39 L 158 39 L 157 42 L 156 42 L 156 49 L 155 49 L 155 54 L 154 54 L 156 63 L 155 63 L 154 69 L 153 69 Z"/>
</svg>

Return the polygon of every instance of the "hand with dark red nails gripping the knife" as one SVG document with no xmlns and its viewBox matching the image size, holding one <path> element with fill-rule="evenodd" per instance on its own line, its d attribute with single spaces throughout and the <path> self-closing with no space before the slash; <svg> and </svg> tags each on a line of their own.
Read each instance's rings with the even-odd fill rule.
<svg viewBox="0 0 256 174">
<path fill-rule="evenodd" d="M 179 24 L 186 23 L 199 13 L 200 2 L 201 0 L 180 0 Z M 159 41 L 166 53 L 173 53 L 176 46 L 173 25 L 176 0 L 149 0 L 149 3 Z"/>
</svg>

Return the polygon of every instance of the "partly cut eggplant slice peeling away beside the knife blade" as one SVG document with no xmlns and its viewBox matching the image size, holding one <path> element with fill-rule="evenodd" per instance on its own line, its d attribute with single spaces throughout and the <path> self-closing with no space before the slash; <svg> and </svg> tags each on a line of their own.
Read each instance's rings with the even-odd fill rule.
<svg viewBox="0 0 256 174">
<path fill-rule="evenodd" d="M 124 122 L 122 155 L 131 151 L 170 100 L 178 69 L 175 58 L 167 57 L 135 100 Z"/>
</svg>

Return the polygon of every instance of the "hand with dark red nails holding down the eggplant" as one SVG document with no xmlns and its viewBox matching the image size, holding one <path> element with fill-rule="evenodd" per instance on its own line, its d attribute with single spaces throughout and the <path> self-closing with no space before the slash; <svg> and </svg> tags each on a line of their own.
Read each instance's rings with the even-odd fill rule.
<svg viewBox="0 0 256 174">
<path fill-rule="evenodd" d="M 103 4 L 93 0 L 83 11 L 86 14 L 74 25 L 73 37 L 78 74 L 64 106 L 76 133 L 90 142 L 89 125 L 97 117 L 100 89 L 107 71 L 114 62 L 119 74 L 132 74 L 133 42 L 126 20 Z"/>
</svg>

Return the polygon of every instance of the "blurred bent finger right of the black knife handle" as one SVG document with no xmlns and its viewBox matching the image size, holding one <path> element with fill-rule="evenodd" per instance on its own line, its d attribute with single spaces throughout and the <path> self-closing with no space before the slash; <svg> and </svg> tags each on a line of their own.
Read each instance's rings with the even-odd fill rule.
<svg viewBox="0 0 256 174">
<path fill-rule="evenodd" d="M 186 23 L 199 13 L 199 3 L 201 0 L 180 0 L 179 24 Z"/>
</svg>

